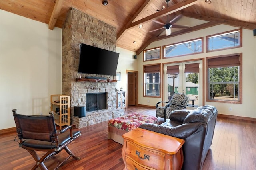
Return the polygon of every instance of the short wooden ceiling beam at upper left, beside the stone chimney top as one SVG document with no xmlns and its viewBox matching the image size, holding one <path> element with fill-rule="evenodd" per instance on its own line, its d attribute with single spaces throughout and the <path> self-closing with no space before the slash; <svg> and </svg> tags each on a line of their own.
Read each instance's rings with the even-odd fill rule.
<svg viewBox="0 0 256 170">
<path fill-rule="evenodd" d="M 48 29 L 53 30 L 54 26 L 56 24 L 56 21 L 60 15 L 60 10 L 62 8 L 62 4 L 63 4 L 64 0 L 56 0 L 53 11 L 52 11 L 52 15 L 49 21 L 49 26 Z"/>
</svg>

